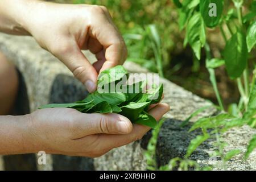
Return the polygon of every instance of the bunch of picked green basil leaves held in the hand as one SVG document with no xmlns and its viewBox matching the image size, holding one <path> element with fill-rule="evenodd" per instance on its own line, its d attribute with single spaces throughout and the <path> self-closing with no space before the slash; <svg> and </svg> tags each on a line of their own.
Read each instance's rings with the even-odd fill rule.
<svg viewBox="0 0 256 182">
<path fill-rule="evenodd" d="M 155 118 L 148 114 L 147 110 L 148 106 L 161 100 L 163 85 L 152 85 L 152 89 L 144 92 L 147 86 L 146 81 L 127 84 L 128 78 L 127 70 L 121 65 L 106 69 L 98 77 L 98 87 L 101 86 L 106 92 L 101 93 L 96 90 L 82 101 L 69 104 L 48 104 L 39 109 L 69 107 L 82 113 L 119 113 L 135 123 L 156 127 Z"/>
</svg>

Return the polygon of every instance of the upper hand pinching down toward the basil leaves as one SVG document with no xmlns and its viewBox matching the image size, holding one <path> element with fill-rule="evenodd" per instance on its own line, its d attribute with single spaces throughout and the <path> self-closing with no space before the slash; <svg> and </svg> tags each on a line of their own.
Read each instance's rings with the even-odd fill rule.
<svg viewBox="0 0 256 182">
<path fill-rule="evenodd" d="M 104 6 L 30 3 L 24 27 L 41 47 L 60 59 L 89 92 L 97 89 L 100 71 L 125 61 L 125 43 Z M 94 53 L 97 62 L 90 64 L 81 49 Z"/>
</svg>

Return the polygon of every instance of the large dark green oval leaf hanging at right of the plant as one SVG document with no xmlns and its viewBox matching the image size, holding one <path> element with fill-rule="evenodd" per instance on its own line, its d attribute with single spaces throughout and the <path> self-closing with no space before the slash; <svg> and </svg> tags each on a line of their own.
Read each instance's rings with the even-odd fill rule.
<svg viewBox="0 0 256 182">
<path fill-rule="evenodd" d="M 247 62 L 247 47 L 245 35 L 237 31 L 226 43 L 224 49 L 226 69 L 230 78 L 242 75 Z"/>
</svg>

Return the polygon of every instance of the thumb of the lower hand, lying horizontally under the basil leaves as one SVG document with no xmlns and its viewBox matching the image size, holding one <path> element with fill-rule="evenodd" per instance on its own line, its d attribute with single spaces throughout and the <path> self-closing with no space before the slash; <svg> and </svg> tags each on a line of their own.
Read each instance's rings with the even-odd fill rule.
<svg viewBox="0 0 256 182">
<path fill-rule="evenodd" d="M 74 139 L 92 134 L 128 134 L 133 130 L 130 120 L 120 114 L 84 114 L 77 112 L 72 123 Z"/>
</svg>

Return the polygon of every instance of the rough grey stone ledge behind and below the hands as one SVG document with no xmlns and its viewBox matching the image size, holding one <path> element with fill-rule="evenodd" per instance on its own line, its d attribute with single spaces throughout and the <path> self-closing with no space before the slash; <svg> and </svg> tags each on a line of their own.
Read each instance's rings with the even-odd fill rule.
<svg viewBox="0 0 256 182">
<path fill-rule="evenodd" d="M 72 102 L 86 96 L 84 86 L 71 77 L 71 72 L 55 57 L 40 48 L 32 38 L 0 34 L 0 51 L 3 51 L 9 57 L 22 73 L 26 82 L 31 111 L 49 102 Z M 93 61 L 93 57 L 89 56 L 89 59 Z M 130 72 L 147 72 L 138 65 L 129 62 L 125 63 L 125 67 Z M 188 129 L 192 125 L 191 123 L 182 128 L 179 125 L 193 111 L 202 106 L 209 105 L 209 103 L 168 80 L 161 79 L 160 81 L 164 84 L 163 102 L 171 105 L 171 110 L 164 116 L 167 119 L 160 130 L 156 150 L 158 163 L 162 165 L 168 163 L 171 158 L 184 156 L 189 141 L 199 134 L 200 131 L 188 133 Z M 216 113 L 216 110 L 213 108 L 205 110 L 193 118 L 192 122 L 199 117 L 209 116 L 214 113 Z M 224 135 L 224 140 L 228 143 L 226 150 L 239 148 L 244 152 L 246 144 L 253 134 L 255 134 L 255 131 L 247 126 L 229 130 Z M 148 138 L 150 138 L 150 133 L 145 135 L 140 141 L 115 148 L 108 152 L 108 154 L 94 160 L 48 155 L 48 165 L 38 166 L 38 169 L 146 169 L 143 152 L 147 146 Z M 191 158 L 197 160 L 202 165 L 213 164 L 213 169 L 215 170 L 225 169 L 220 159 L 210 157 L 210 154 L 214 151 L 212 142 L 214 140 L 204 142 L 197 148 Z M 1 166 L 3 164 L 1 165 L 0 160 L 0 169 Z M 243 161 L 242 155 L 238 155 L 235 160 L 230 160 L 227 163 L 226 169 L 255 170 L 256 152 L 254 151 L 247 161 Z"/>
</svg>

